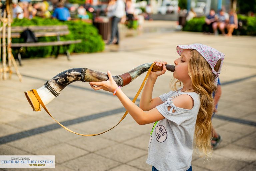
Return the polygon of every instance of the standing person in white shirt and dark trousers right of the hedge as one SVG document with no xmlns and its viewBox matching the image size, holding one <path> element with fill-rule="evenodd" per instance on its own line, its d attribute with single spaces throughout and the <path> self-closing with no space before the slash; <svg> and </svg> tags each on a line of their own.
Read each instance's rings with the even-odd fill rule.
<svg viewBox="0 0 256 171">
<path fill-rule="evenodd" d="M 108 41 L 109 44 L 113 44 L 114 37 L 116 37 L 117 41 L 115 44 L 119 44 L 119 32 L 118 32 L 118 23 L 120 22 L 121 18 L 125 16 L 125 4 L 123 0 L 116 0 L 116 3 L 111 6 L 112 9 L 109 9 L 112 11 L 112 23 L 111 23 L 111 37 Z"/>
</svg>

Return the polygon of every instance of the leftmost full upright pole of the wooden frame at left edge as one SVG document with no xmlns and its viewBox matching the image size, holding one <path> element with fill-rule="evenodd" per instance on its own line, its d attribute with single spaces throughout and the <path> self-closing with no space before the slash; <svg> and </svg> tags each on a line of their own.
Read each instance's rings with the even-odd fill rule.
<svg viewBox="0 0 256 171">
<path fill-rule="evenodd" d="M 6 10 L 4 10 L 4 18 L 3 18 L 3 79 L 6 80 Z"/>
</svg>

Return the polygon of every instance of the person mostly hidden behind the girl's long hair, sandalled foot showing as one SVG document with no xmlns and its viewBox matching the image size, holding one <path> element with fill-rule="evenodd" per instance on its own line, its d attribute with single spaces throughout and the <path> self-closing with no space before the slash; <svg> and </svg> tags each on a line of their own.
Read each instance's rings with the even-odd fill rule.
<svg viewBox="0 0 256 171">
<path fill-rule="evenodd" d="M 220 100 L 220 96 L 221 96 L 221 84 L 220 84 L 220 79 L 218 78 L 218 83 L 217 83 L 217 89 L 215 90 L 215 92 L 212 93 L 213 96 L 213 100 L 214 100 L 214 110 L 213 110 L 213 116 L 215 115 L 215 113 L 217 112 L 217 108 L 218 108 L 218 102 Z M 211 140 L 211 145 L 213 149 L 216 149 L 221 141 L 222 138 L 221 136 L 216 132 L 216 130 L 214 129 L 214 127 L 212 127 L 212 140 Z"/>
</svg>

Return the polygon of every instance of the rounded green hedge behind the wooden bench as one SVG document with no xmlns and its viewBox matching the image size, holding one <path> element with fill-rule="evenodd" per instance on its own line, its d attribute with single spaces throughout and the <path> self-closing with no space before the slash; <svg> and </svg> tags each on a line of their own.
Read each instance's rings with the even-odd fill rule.
<svg viewBox="0 0 256 171">
<path fill-rule="evenodd" d="M 72 44 L 69 47 L 70 53 L 92 53 L 104 50 L 104 42 L 101 35 L 98 34 L 98 29 L 91 24 L 83 21 L 65 21 L 60 22 L 57 19 L 50 18 L 34 18 L 34 19 L 15 19 L 12 26 L 30 26 L 30 25 L 68 25 L 70 31 L 69 35 L 61 36 L 61 40 L 77 40 L 82 39 L 81 43 Z M 56 41 L 57 37 L 40 37 L 39 42 Z M 24 42 L 21 38 L 12 39 L 13 43 Z M 55 54 L 57 50 L 56 46 L 44 46 L 44 47 L 27 47 L 22 51 L 22 58 L 29 57 L 48 57 L 51 54 Z M 66 49 L 60 48 L 60 53 L 64 53 Z M 17 50 L 13 51 L 14 55 Z"/>
</svg>

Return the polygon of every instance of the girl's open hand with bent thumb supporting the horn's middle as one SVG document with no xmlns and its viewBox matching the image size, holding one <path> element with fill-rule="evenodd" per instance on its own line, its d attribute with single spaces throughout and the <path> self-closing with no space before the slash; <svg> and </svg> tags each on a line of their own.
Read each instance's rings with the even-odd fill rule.
<svg viewBox="0 0 256 171">
<path fill-rule="evenodd" d="M 114 81 L 112 74 L 110 73 L 110 71 L 107 72 L 108 73 L 108 80 L 107 81 L 101 81 L 101 82 L 90 82 L 90 86 L 94 89 L 94 90 L 100 90 L 103 89 L 105 91 L 109 91 L 109 92 L 114 92 L 115 89 L 118 87 L 118 85 L 116 84 L 116 82 Z M 97 87 L 96 87 L 97 86 Z"/>
</svg>

